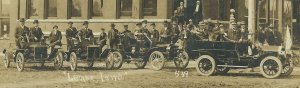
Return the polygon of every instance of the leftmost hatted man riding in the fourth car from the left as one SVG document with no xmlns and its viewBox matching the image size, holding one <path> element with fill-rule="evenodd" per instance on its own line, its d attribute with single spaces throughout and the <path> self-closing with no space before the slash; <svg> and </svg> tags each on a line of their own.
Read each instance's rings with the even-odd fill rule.
<svg viewBox="0 0 300 88">
<path fill-rule="evenodd" d="M 160 41 L 163 43 L 171 43 L 172 29 L 169 25 L 170 23 L 168 21 L 164 21 L 164 29 L 160 31 Z"/>
</svg>

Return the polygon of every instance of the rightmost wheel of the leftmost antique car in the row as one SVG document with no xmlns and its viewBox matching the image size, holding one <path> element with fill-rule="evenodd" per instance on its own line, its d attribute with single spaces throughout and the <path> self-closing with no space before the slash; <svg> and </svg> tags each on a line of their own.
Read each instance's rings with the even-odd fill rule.
<svg viewBox="0 0 300 88">
<path fill-rule="evenodd" d="M 63 54 L 62 52 L 57 52 L 54 59 L 54 68 L 60 70 L 63 65 Z"/>
</svg>

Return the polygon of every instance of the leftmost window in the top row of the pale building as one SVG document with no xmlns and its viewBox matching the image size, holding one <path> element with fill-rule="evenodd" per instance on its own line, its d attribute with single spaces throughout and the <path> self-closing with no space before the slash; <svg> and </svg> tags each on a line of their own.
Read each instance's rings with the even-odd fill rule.
<svg viewBox="0 0 300 88">
<path fill-rule="evenodd" d="M 28 0 L 28 15 L 29 17 L 39 16 L 39 0 Z"/>
</svg>

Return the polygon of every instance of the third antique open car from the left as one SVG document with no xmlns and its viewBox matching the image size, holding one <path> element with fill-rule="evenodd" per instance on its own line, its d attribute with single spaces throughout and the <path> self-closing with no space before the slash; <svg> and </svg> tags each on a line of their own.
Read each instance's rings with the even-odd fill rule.
<svg viewBox="0 0 300 88">
<path fill-rule="evenodd" d="M 150 54 L 155 51 L 155 48 L 152 47 L 152 41 L 147 35 L 145 36 L 146 40 L 137 40 L 133 34 L 118 34 L 118 48 L 112 50 L 113 52 L 109 55 L 109 57 L 114 58 L 113 67 L 115 69 L 121 68 L 124 62 L 134 62 L 138 69 L 145 68 Z M 143 43 L 139 46 L 138 42 Z"/>
</svg>

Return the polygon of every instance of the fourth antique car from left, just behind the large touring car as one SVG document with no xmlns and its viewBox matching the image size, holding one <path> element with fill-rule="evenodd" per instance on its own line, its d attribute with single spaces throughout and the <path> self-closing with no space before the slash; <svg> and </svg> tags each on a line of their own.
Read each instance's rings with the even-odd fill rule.
<svg viewBox="0 0 300 88">
<path fill-rule="evenodd" d="M 185 69 L 189 64 L 188 53 L 182 47 L 182 41 L 174 44 L 158 43 L 155 51 L 149 56 L 149 63 L 153 70 L 161 70 L 166 61 L 174 61 L 177 68 Z"/>
</svg>

